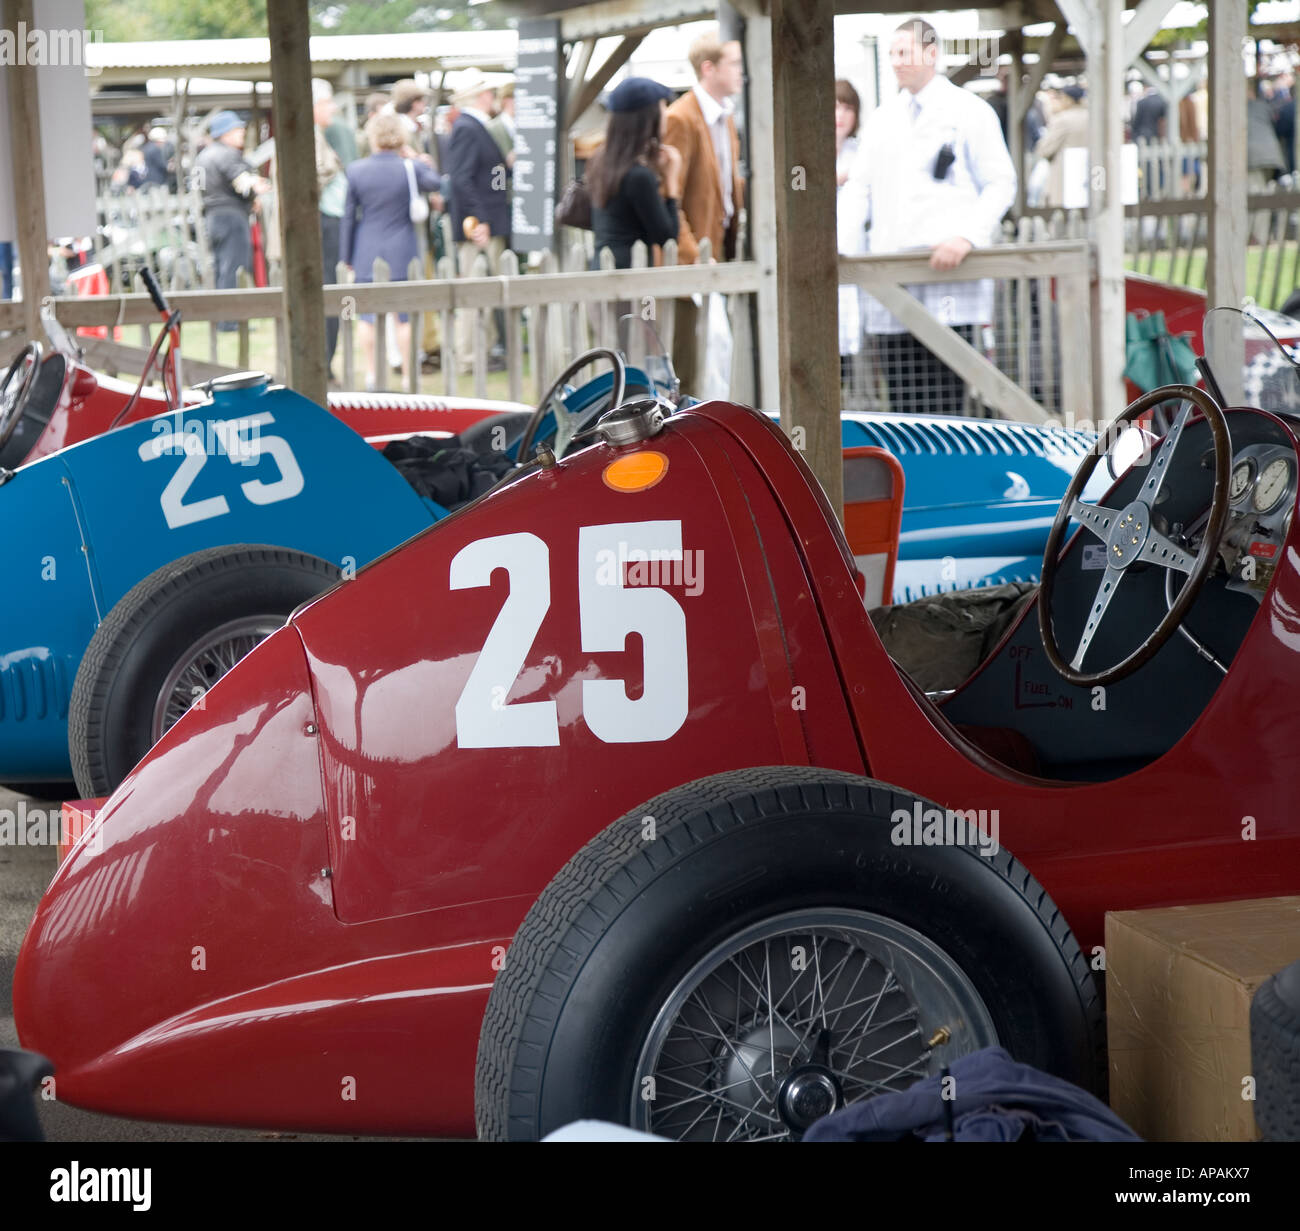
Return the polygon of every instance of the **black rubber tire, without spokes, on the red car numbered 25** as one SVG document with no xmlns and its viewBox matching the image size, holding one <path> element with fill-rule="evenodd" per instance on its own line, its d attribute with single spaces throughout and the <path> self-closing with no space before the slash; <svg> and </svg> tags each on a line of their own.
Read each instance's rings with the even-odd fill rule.
<svg viewBox="0 0 1300 1231">
<path fill-rule="evenodd" d="M 594 837 L 533 903 L 497 976 L 478 1040 L 480 1137 L 536 1140 L 586 1118 L 658 1131 L 658 1109 L 638 1110 L 645 1105 L 634 1096 L 646 1089 L 646 1058 L 658 1063 L 663 1054 L 653 1040 L 671 1039 L 676 1028 L 655 1033 L 666 1020 L 672 1023 L 668 1007 L 692 1000 L 673 997 L 692 987 L 696 971 L 710 970 L 714 954 L 729 952 L 727 945 L 815 914 L 870 919 L 874 927 L 898 929 L 930 946 L 930 967 L 900 957 L 906 950 L 885 948 L 893 965 L 880 963 L 883 974 L 875 978 L 884 979 L 883 985 L 889 975 L 904 985 L 922 971 L 910 988 L 915 992 L 924 971 L 948 970 L 956 971 L 953 988 L 965 981 L 976 993 L 978 1004 L 965 1015 L 927 1022 L 915 1009 L 910 1037 L 918 1041 L 909 1046 L 922 1053 L 914 1066 L 937 1071 L 956 1058 L 945 1056 L 941 1043 L 936 1048 L 930 1033 L 942 1020 L 967 1031 L 962 1052 L 996 1043 L 1019 1061 L 1104 1091 L 1098 984 L 1065 918 L 1005 850 L 982 855 L 970 845 L 894 845 L 890 818 L 918 802 L 933 806 L 849 773 L 741 770 L 670 790 Z M 650 840 L 644 836 L 649 816 Z M 774 963 L 779 967 L 784 970 Z M 898 976 L 898 970 L 905 974 Z M 816 979 L 820 984 L 820 974 Z M 913 1000 L 919 1005 L 919 997 Z M 984 1037 L 971 1028 L 982 1015 Z M 742 1015 L 737 1006 L 737 1022 L 742 1017 L 750 1028 L 767 1031 L 763 1023 L 777 1014 Z M 996 1037 L 987 1037 L 989 1030 Z M 832 1032 L 820 1033 L 829 1046 Z M 849 1031 L 841 1037 L 855 1036 Z M 729 1065 L 728 1054 L 738 1057 L 751 1046 L 733 1043 L 705 1063 Z M 719 1045 L 712 1046 L 718 1052 Z M 789 1065 L 802 1065 L 790 1050 Z M 784 1098 L 797 1071 L 779 1071 L 771 1061 L 768 1095 L 785 1074 Z M 659 1070 L 650 1072 L 658 1080 Z M 913 1071 L 887 1088 L 923 1075 Z M 731 1084 L 719 1078 L 712 1088 Z M 841 1093 L 842 1101 L 862 1097 L 850 1095 L 846 1080 Z M 770 1106 L 780 1110 L 776 1100 Z M 785 1111 L 780 1115 L 784 1119 Z M 737 1121 L 741 1128 L 745 1118 Z M 776 1123 L 775 1115 L 768 1119 Z M 777 1131 L 785 1127 L 788 1122 L 777 1123 Z M 802 1127 L 796 1124 L 792 1135 Z"/>
</svg>

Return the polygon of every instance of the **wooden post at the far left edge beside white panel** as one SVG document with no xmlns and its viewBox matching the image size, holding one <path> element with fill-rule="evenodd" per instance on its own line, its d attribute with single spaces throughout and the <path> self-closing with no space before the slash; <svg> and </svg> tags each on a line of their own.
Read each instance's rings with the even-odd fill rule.
<svg viewBox="0 0 1300 1231">
<path fill-rule="evenodd" d="M 34 30 L 32 0 L 9 0 L 9 27 Z M 22 266 L 22 328 L 29 342 L 44 335 L 40 302 L 49 294 L 49 235 L 46 234 L 46 172 L 40 157 L 40 107 L 36 101 L 36 66 L 5 66 L 9 82 L 9 156 L 13 175 L 13 221 L 18 263 Z M 21 190 L 17 187 L 21 185 Z"/>
</svg>

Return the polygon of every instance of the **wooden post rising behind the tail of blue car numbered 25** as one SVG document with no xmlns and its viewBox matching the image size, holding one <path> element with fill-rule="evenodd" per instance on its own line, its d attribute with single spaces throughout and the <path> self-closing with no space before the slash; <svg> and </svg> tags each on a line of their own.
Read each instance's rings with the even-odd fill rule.
<svg viewBox="0 0 1300 1231">
<path fill-rule="evenodd" d="M 268 5 L 266 27 L 289 324 L 287 380 L 303 396 L 325 406 L 325 295 L 307 5 Z"/>
</svg>

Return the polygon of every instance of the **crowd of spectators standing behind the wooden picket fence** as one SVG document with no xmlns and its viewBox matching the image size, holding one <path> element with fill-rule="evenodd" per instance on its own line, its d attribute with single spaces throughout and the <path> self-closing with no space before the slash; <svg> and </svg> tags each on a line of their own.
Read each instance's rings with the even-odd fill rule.
<svg viewBox="0 0 1300 1231">
<path fill-rule="evenodd" d="M 939 71 L 940 49 L 930 22 L 902 22 L 889 43 L 900 90 L 870 114 L 852 82 L 835 83 L 837 240 L 844 253 L 928 251 L 937 270 L 957 270 L 974 247 L 996 237 L 1017 199 L 1018 173 L 1026 177 L 1022 196 L 1031 205 L 1079 203 L 1089 140 L 1086 83 L 1065 79 L 1030 100 L 1020 133 L 1027 157 L 1017 168 L 1009 153 L 1009 69 L 998 70 L 998 88 L 985 100 Z M 733 114 L 744 83 L 742 49 L 712 29 L 692 43 L 686 57 L 694 84 L 680 96 L 644 77 L 627 78 L 606 95 L 607 123 L 586 166 L 586 191 L 595 250 L 612 252 L 616 266 L 630 265 L 638 242 L 654 261 L 662 260 L 670 240 L 676 240 L 680 261 L 694 261 L 706 238 L 712 260 L 736 256 L 745 199 Z M 1295 173 L 1294 84 L 1290 71 L 1249 81 L 1251 191 Z M 1176 97 L 1174 131 L 1191 148 L 1176 162 L 1147 165 L 1143 191 L 1195 195 L 1204 190 L 1196 152 L 1208 127 L 1204 82 L 1180 92 L 1131 87 L 1124 139 L 1166 142 L 1171 97 Z M 460 276 L 498 272 L 511 239 L 517 142 L 512 83 L 469 69 L 456 74 L 454 87 L 434 95 L 413 79 L 398 81 L 364 99 L 355 126 L 351 110 L 344 116 L 335 105 L 328 82 L 313 82 L 312 100 L 326 282 L 334 282 L 339 270 L 370 281 L 377 260 L 394 281 L 407 278 L 412 268 L 433 277 L 442 257 Z M 192 166 L 221 289 L 233 287 L 237 270 L 254 263 L 251 227 L 274 181 L 273 164 L 255 168 L 246 160 L 244 139 L 246 121 L 235 112 L 217 112 L 207 122 Z M 95 159 L 110 191 L 174 188 L 178 175 L 186 178 L 174 142 L 160 126 L 131 135 L 120 153 L 98 135 Z M 1170 169 L 1176 183 L 1166 182 Z M 967 341 L 991 318 L 987 281 L 954 276 L 914 292 Z M 961 404 L 961 381 L 889 312 L 854 287 L 838 294 L 845 368 L 870 346 L 884 356 L 896 408 L 920 408 L 920 402 L 913 406 L 916 398 L 928 409 Z M 697 296 L 680 300 L 675 313 L 672 352 L 685 387 L 699 372 L 699 311 Z M 424 316 L 417 350 L 422 365 L 432 368 L 439 363 L 439 316 Z M 456 313 L 455 354 L 464 372 L 471 370 L 480 341 L 476 321 L 477 313 Z M 389 350 L 380 361 L 394 369 L 404 368 L 411 354 L 407 328 L 404 315 L 391 318 Z M 359 333 L 365 370 L 372 372 L 373 317 L 363 317 Z M 330 320 L 330 363 L 337 338 L 338 321 Z M 488 328 L 490 369 L 504 367 L 503 342 L 498 315 Z"/>
</svg>

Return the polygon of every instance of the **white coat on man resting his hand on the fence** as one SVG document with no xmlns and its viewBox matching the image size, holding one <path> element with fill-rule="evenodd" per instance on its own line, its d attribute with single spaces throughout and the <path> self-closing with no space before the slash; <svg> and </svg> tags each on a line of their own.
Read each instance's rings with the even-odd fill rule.
<svg viewBox="0 0 1300 1231">
<path fill-rule="evenodd" d="M 945 144 L 953 164 L 941 181 L 935 161 Z M 1015 168 L 997 114 L 978 95 L 936 74 L 915 95 L 906 90 L 864 121 L 861 148 L 840 192 L 840 251 L 845 237 L 870 221 L 867 251 L 930 250 L 953 237 L 972 247 L 992 243 L 1015 200 Z M 909 287 L 945 324 L 992 318 L 993 282 L 956 281 Z M 902 333 L 902 325 L 864 296 L 868 333 Z"/>
</svg>

